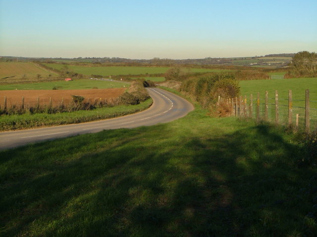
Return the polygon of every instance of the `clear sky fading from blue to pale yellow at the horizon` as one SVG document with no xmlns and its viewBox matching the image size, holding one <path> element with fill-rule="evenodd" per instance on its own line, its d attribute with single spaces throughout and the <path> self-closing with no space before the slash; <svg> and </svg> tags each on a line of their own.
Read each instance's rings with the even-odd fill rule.
<svg viewBox="0 0 317 237">
<path fill-rule="evenodd" d="M 0 56 L 317 52 L 317 0 L 0 0 Z"/>
</svg>

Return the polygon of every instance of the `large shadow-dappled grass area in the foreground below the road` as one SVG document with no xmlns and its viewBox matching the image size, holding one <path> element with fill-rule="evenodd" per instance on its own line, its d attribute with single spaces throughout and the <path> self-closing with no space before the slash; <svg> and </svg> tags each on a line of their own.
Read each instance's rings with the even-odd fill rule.
<svg viewBox="0 0 317 237">
<path fill-rule="evenodd" d="M 1 236 L 316 236 L 294 135 L 206 114 L 1 151 Z"/>
</svg>

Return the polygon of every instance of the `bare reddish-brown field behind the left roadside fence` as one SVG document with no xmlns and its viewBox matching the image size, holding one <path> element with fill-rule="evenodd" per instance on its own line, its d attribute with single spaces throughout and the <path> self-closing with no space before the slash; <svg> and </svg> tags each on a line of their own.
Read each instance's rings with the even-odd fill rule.
<svg viewBox="0 0 317 237">
<path fill-rule="evenodd" d="M 52 98 L 52 106 L 59 106 L 63 99 L 64 105 L 71 102 L 71 95 L 80 95 L 88 99 L 91 103 L 95 99 L 99 102 L 100 99 L 105 101 L 106 99 L 113 99 L 123 94 L 125 88 L 109 88 L 109 89 L 87 89 L 87 90 L 1 90 L 0 91 L 0 106 L 4 107 L 4 97 L 6 96 L 6 106 L 10 108 L 13 105 L 22 105 L 22 96 L 24 96 L 24 105 L 26 107 L 37 106 L 37 100 L 39 97 L 40 106 L 50 104 L 50 98 Z"/>
</svg>

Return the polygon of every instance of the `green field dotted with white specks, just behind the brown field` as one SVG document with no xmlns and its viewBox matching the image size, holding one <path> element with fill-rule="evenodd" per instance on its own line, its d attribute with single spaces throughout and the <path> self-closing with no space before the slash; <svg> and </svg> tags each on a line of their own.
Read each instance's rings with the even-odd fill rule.
<svg viewBox="0 0 317 237">
<path fill-rule="evenodd" d="M 106 89 L 129 86 L 130 84 L 127 82 L 75 79 L 72 81 L 58 80 L 39 83 L 3 84 L 0 85 L 0 90 L 52 90 L 53 87 L 56 87 L 58 90 L 93 89 L 94 87 L 97 87 L 98 89 Z"/>
</svg>

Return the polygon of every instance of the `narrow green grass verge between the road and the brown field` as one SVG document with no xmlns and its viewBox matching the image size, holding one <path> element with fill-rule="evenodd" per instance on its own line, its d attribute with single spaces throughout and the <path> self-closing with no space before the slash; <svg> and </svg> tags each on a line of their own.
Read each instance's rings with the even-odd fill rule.
<svg viewBox="0 0 317 237">
<path fill-rule="evenodd" d="M 104 107 L 94 110 L 80 110 L 75 112 L 65 112 L 57 114 L 22 114 L 22 115 L 2 115 L 0 117 L 0 131 L 19 130 L 41 126 L 53 126 L 61 124 L 79 123 L 115 118 L 124 115 L 134 114 L 148 109 L 152 105 L 149 99 L 139 105 L 120 105 L 114 107 Z"/>
</svg>

